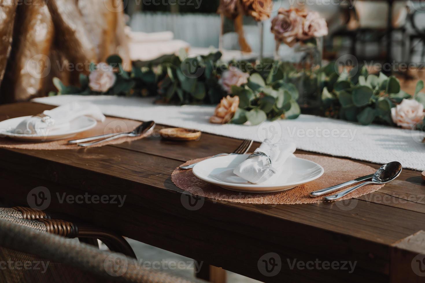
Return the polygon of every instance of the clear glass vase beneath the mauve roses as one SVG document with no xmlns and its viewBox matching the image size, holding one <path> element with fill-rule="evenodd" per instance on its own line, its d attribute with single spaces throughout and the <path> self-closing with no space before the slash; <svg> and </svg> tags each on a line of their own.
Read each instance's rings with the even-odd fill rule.
<svg viewBox="0 0 425 283">
<path fill-rule="evenodd" d="M 298 104 L 304 113 L 320 108 L 320 68 L 323 37 L 297 42 L 292 47 L 276 42 L 275 60 L 284 64 L 286 82 L 295 84 L 299 92 Z"/>
</svg>

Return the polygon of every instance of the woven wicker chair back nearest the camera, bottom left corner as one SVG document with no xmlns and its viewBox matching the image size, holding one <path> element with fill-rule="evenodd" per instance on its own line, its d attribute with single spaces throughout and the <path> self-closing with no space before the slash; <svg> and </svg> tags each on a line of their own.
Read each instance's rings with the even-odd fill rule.
<svg viewBox="0 0 425 283">
<path fill-rule="evenodd" d="M 0 282 L 200 282 L 144 269 L 134 258 L 45 233 L 40 221 L 6 214 L 3 219 L 8 221 L 0 220 Z"/>
</svg>

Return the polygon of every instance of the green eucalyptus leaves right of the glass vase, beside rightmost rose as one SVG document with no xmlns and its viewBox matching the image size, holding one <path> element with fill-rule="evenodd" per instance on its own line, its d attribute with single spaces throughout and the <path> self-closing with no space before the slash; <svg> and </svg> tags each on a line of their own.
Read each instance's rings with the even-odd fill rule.
<svg viewBox="0 0 425 283">
<path fill-rule="evenodd" d="M 395 76 L 369 74 L 366 67 L 350 71 L 338 70 L 335 62 L 322 68 L 320 81 L 323 87 L 322 104 L 325 115 L 362 125 L 383 123 L 394 126 L 391 108 L 403 99 L 415 99 L 425 106 L 422 80 L 416 84 L 413 95 L 401 90 Z"/>
</svg>

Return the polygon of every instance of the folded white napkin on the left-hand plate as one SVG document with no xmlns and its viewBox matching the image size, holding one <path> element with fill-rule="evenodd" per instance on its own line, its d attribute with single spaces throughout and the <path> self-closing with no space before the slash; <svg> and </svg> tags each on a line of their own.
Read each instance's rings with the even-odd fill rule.
<svg viewBox="0 0 425 283">
<path fill-rule="evenodd" d="M 37 134 L 43 130 L 59 129 L 69 126 L 69 122 L 80 116 L 89 116 L 98 121 L 104 121 L 105 115 L 99 107 L 90 103 L 71 102 L 58 106 L 51 110 L 45 110 L 42 114 L 52 119 L 52 123 L 46 123 L 41 117 L 28 117 L 15 128 L 19 134 Z"/>
</svg>

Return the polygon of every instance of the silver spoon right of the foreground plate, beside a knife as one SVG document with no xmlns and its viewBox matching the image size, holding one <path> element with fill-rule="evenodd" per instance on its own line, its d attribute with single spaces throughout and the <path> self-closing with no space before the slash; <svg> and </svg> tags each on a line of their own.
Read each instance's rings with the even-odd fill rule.
<svg viewBox="0 0 425 283">
<path fill-rule="evenodd" d="M 342 198 L 343 196 L 346 196 L 348 193 L 351 193 L 352 191 L 355 191 L 358 188 L 363 187 L 365 185 L 388 183 L 388 182 L 394 180 L 395 178 L 397 178 L 400 175 L 401 171 L 402 171 L 402 166 L 397 161 L 393 161 L 393 162 L 384 164 L 384 165 L 381 166 L 381 168 L 379 168 L 375 172 L 375 174 L 373 174 L 372 181 L 364 182 L 364 183 L 357 185 L 353 188 L 349 188 L 345 191 L 336 193 L 332 196 L 325 196 L 323 199 L 325 199 L 325 200 L 336 200 L 336 199 Z"/>
</svg>

